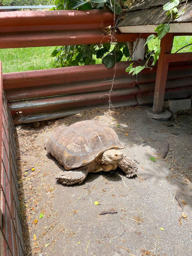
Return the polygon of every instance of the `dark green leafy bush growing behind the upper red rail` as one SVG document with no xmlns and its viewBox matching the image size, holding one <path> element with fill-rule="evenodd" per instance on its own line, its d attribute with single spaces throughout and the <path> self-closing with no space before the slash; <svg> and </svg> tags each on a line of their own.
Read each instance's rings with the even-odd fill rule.
<svg viewBox="0 0 192 256">
<path fill-rule="evenodd" d="M 89 10 L 89 9 L 111 9 L 115 14 L 121 14 L 122 0 L 55 0 L 56 7 L 52 10 Z M 105 34 L 111 33 L 111 28 L 102 29 Z M 107 68 L 112 68 L 123 56 L 129 57 L 129 50 L 126 42 L 104 43 L 87 45 L 68 45 L 56 47 L 51 54 L 56 57 L 55 67 L 70 67 L 78 65 L 92 65 L 97 59 Z"/>
</svg>

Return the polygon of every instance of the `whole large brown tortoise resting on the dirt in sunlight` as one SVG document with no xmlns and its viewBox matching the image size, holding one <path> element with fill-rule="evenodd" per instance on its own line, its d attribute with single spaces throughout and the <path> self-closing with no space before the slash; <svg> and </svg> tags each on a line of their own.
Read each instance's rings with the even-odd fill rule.
<svg viewBox="0 0 192 256">
<path fill-rule="evenodd" d="M 119 151 L 124 147 L 111 127 L 96 120 L 59 127 L 45 143 L 47 152 L 65 167 L 56 177 L 65 185 L 81 184 L 89 172 L 107 172 L 118 165 L 127 177 L 136 173 L 134 162 Z"/>
</svg>

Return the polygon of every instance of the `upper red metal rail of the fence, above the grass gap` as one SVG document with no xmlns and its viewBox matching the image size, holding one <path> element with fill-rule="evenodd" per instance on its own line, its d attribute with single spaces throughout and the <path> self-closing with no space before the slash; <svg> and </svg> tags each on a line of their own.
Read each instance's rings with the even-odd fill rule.
<svg viewBox="0 0 192 256">
<path fill-rule="evenodd" d="M 107 10 L 2 12 L 0 48 L 128 42 L 150 35 L 101 30 L 113 27 L 117 17 Z"/>
</svg>

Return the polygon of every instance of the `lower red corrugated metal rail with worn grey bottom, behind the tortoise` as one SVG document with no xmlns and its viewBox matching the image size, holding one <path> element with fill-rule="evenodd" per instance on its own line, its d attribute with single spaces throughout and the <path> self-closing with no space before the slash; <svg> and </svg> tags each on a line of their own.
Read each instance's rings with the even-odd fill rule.
<svg viewBox="0 0 192 256">
<path fill-rule="evenodd" d="M 143 63 L 134 61 L 133 66 Z M 151 70 L 150 63 L 137 77 L 125 72 L 130 64 L 126 61 L 110 69 L 97 64 L 7 73 L 3 74 L 3 87 L 15 124 L 60 118 L 91 108 L 108 108 L 114 72 L 111 92 L 114 107 L 152 103 L 157 65 Z M 186 79 L 192 78 L 191 68 L 191 61 L 170 63 L 165 99 L 192 95 L 192 80 Z"/>
</svg>

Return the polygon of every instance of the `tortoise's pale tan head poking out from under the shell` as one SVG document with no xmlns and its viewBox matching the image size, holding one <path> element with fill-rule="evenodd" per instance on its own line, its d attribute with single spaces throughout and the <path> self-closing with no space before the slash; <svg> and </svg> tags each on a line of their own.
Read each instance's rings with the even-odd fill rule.
<svg viewBox="0 0 192 256">
<path fill-rule="evenodd" d="M 114 164 L 119 163 L 123 159 L 123 153 L 119 150 L 111 149 L 106 150 L 103 154 L 99 155 L 95 161 L 100 164 Z"/>
</svg>

